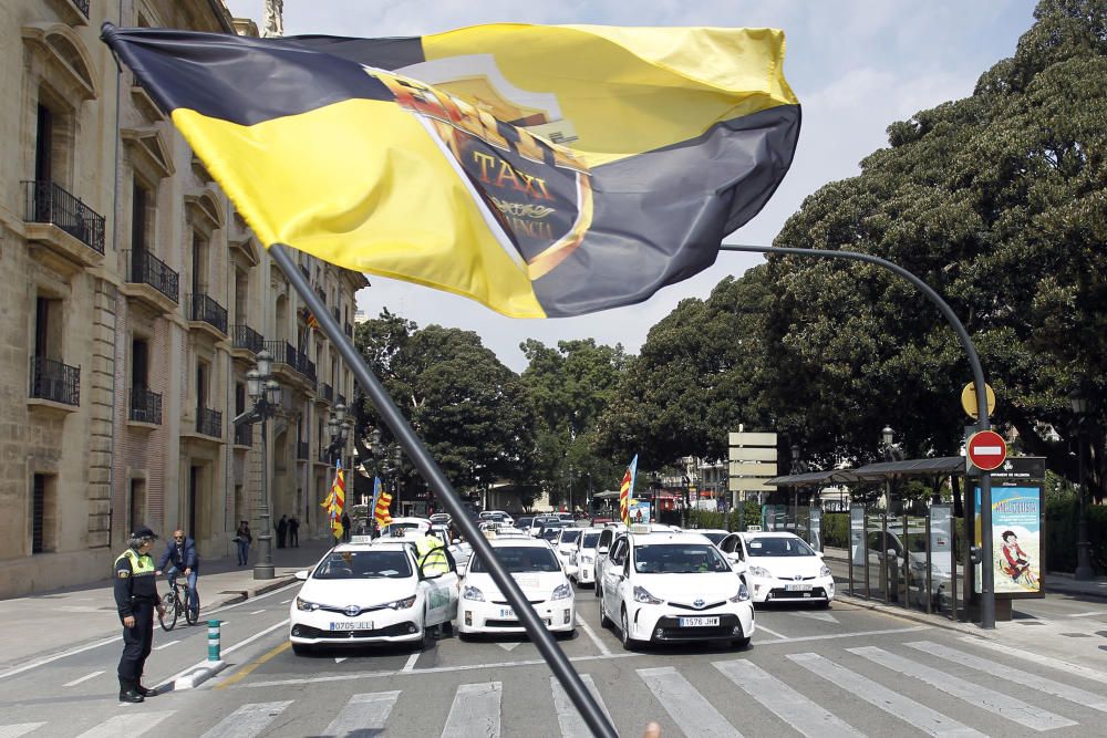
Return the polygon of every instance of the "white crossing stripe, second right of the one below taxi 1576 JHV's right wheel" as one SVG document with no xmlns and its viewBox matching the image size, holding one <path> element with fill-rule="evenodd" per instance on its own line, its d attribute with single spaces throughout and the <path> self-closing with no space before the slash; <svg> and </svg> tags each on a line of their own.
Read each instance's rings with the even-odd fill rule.
<svg viewBox="0 0 1107 738">
<path fill-rule="evenodd" d="M 1032 730 L 1054 730 L 1056 728 L 1067 728 L 1077 725 L 1075 720 L 1069 720 L 1061 715 L 1027 705 L 1016 697 L 982 687 L 968 679 L 962 679 L 940 669 L 924 666 L 909 658 L 897 656 L 883 648 L 861 646 L 859 648 L 847 648 L 846 651 L 857 654 L 862 658 L 868 658 L 875 664 L 880 664 L 884 668 L 909 676 L 912 679 L 924 682 L 951 697 L 987 710 L 993 715 L 999 715 L 1002 718 L 1014 720 Z"/>
</svg>

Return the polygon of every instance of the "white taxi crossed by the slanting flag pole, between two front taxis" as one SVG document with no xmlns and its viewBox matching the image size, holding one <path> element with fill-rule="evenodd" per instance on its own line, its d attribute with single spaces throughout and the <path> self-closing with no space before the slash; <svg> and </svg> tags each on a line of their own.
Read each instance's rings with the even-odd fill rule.
<svg viewBox="0 0 1107 738">
<path fill-rule="evenodd" d="M 534 538 L 494 538 L 488 543 L 519 589 L 555 633 L 577 626 L 572 586 L 549 543 Z M 461 582 L 457 628 L 462 637 L 476 633 L 523 633 L 523 623 L 499 591 L 479 557 L 474 555 Z"/>
</svg>

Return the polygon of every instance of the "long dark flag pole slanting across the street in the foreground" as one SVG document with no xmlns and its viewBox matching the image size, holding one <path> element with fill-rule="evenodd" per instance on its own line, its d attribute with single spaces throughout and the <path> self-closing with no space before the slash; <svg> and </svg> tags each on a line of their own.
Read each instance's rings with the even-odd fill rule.
<svg viewBox="0 0 1107 738">
<path fill-rule="evenodd" d="M 515 610 L 516 616 L 523 622 L 527 635 L 530 636 L 530 640 L 538 647 L 546 663 L 549 664 L 550 671 L 557 676 L 566 694 L 572 700 L 572 704 L 576 705 L 581 717 L 584 718 L 588 727 L 592 730 L 592 734 L 601 738 L 614 738 L 618 736 L 619 734 L 615 732 L 611 720 L 603 714 L 592 694 L 584 687 L 580 675 L 577 674 L 572 664 L 566 657 L 560 646 L 558 646 L 554 635 L 546 630 L 546 625 L 538 619 L 538 614 L 530 606 L 518 583 L 511 578 L 507 569 L 504 568 L 503 562 L 500 562 L 492 545 L 489 545 L 476 524 L 469 519 L 465 508 L 462 506 L 461 498 L 449 484 L 449 480 L 446 479 L 446 476 L 438 468 L 435 460 L 431 458 L 431 454 L 426 450 L 418 436 L 415 435 L 411 424 L 407 423 L 400 408 L 396 407 L 395 402 L 384 389 L 384 385 L 370 371 L 369 364 L 358 353 L 353 341 L 346 337 L 338 321 L 327 310 L 327 305 L 312 291 L 311 285 L 308 284 L 308 280 L 292 261 L 288 249 L 289 247 L 283 243 L 273 243 L 269 247 L 269 254 L 277 262 L 277 266 L 280 267 L 281 271 L 284 272 L 284 277 L 292 283 L 300 299 L 308 304 L 308 309 L 315 315 L 320 329 L 338 349 L 343 361 L 345 361 L 358 378 L 358 383 L 373 402 L 376 412 L 381 414 L 381 419 L 384 420 L 389 430 L 400 441 L 404 451 L 407 453 L 407 458 L 411 459 L 420 475 L 427 480 L 438 500 L 453 516 L 455 524 L 457 524 L 473 547 L 474 554 L 480 558 L 480 561 L 487 567 L 493 581 L 496 582 L 496 586 L 499 588 L 500 592 L 507 596 L 508 602 L 511 603 L 511 607 Z"/>
</svg>

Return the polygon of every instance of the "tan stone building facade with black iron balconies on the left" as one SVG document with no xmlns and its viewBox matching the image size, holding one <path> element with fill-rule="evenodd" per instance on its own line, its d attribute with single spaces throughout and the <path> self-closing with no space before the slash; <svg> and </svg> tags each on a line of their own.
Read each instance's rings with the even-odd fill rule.
<svg viewBox="0 0 1107 738">
<path fill-rule="evenodd" d="M 275 518 L 323 534 L 328 415 L 353 377 L 173 124 L 101 43 L 104 21 L 252 33 L 221 0 L 0 4 L 0 597 L 110 573 L 126 533 L 201 557 Z M 363 276 L 299 254 L 352 336 Z M 275 356 L 269 458 L 246 373 Z"/>
</svg>

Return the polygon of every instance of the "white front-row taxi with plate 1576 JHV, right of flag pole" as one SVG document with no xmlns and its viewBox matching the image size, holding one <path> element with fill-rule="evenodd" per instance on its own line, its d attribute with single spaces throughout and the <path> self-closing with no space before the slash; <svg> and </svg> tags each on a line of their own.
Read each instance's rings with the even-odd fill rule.
<svg viewBox="0 0 1107 738">
<path fill-rule="evenodd" d="M 600 624 L 618 623 L 628 651 L 642 642 L 708 640 L 744 647 L 753 636 L 745 582 L 699 533 L 631 526 L 614 539 L 602 571 Z"/>
</svg>

